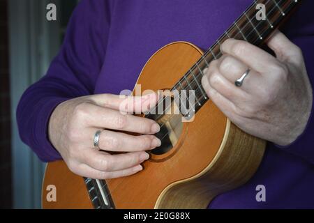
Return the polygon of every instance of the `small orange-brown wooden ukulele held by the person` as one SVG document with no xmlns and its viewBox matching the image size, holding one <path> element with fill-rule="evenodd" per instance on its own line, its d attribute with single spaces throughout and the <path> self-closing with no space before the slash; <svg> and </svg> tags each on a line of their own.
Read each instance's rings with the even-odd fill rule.
<svg viewBox="0 0 314 223">
<path fill-rule="evenodd" d="M 142 90 L 193 90 L 193 121 L 184 121 L 186 114 L 146 114 L 160 125 L 156 137 L 162 144 L 149 151 L 144 170 L 132 176 L 82 178 L 63 161 L 47 164 L 43 208 L 207 208 L 218 194 L 246 183 L 260 165 L 266 141 L 237 128 L 209 100 L 202 89 L 203 70 L 222 55 L 220 44 L 227 38 L 261 46 L 300 2 L 254 1 L 206 52 L 186 42 L 159 49 L 147 61 L 137 84 Z M 265 6 L 265 20 L 255 16 L 259 3 Z M 158 104 L 166 97 L 160 100 Z M 175 98 L 170 105 L 177 106 Z M 57 201 L 47 199 L 49 185 L 57 188 Z"/>
</svg>

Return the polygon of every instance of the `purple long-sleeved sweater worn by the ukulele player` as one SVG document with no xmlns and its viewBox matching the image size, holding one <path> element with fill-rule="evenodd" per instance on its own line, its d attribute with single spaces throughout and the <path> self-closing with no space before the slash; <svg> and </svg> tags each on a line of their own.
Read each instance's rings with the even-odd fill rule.
<svg viewBox="0 0 314 223">
<path fill-rule="evenodd" d="M 20 136 L 41 160 L 61 159 L 47 138 L 60 102 L 133 89 L 142 67 L 163 45 L 184 40 L 208 49 L 252 0 L 82 0 L 45 77 L 25 91 L 17 108 Z M 314 1 L 304 0 L 284 33 L 303 50 L 314 80 Z M 314 208 L 314 118 L 290 146 L 269 143 L 248 183 L 216 197 L 209 208 Z M 257 185 L 266 201 L 257 202 Z"/>
</svg>

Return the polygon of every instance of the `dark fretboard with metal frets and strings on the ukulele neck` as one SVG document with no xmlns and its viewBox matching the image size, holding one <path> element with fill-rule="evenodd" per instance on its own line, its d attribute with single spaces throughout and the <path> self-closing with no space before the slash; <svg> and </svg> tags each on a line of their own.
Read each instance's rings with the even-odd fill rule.
<svg viewBox="0 0 314 223">
<path fill-rule="evenodd" d="M 259 11 L 257 6 L 261 6 L 259 5 L 260 3 L 265 6 L 266 18 L 264 20 L 257 20 L 256 16 Z M 219 59 L 222 55 L 220 45 L 228 38 L 246 40 L 248 43 L 257 46 L 262 45 L 264 40 L 283 23 L 285 18 L 292 13 L 299 3 L 301 3 L 300 0 L 253 1 L 251 6 L 216 40 L 216 43 L 186 72 L 184 77 L 174 85 L 172 90 L 178 90 L 179 92 L 182 92 L 181 90 L 193 90 L 195 93 L 195 105 L 190 107 L 194 107 L 193 112 L 197 112 L 209 99 L 201 84 L 201 79 L 204 75 L 203 70 L 209 66 L 211 61 Z M 186 105 L 190 105 L 189 102 Z"/>
</svg>

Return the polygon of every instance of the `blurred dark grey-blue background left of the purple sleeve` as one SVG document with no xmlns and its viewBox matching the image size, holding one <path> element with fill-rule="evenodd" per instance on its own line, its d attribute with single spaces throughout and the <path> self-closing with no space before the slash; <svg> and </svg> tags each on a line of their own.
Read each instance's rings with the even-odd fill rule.
<svg viewBox="0 0 314 223">
<path fill-rule="evenodd" d="M 40 208 L 45 164 L 20 140 L 15 109 L 45 75 L 79 0 L 0 0 L 0 208 Z M 47 21 L 47 4 L 57 21 Z"/>
</svg>

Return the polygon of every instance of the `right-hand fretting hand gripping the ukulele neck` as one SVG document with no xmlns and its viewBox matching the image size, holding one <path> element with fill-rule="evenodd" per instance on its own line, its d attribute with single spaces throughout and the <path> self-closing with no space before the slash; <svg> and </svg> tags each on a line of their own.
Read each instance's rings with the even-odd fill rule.
<svg viewBox="0 0 314 223">
<path fill-rule="evenodd" d="M 202 78 L 209 98 L 239 128 L 275 144 L 291 144 L 304 131 L 313 94 L 301 49 L 283 33 L 267 45 L 276 58 L 241 40 L 225 40 L 223 56 Z M 234 85 L 250 68 L 241 87 Z"/>
</svg>

